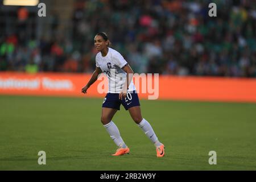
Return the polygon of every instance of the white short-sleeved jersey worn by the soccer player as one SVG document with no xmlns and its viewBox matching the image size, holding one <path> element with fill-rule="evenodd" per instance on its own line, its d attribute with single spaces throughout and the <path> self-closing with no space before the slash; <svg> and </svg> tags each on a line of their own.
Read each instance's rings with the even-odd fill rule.
<svg viewBox="0 0 256 182">
<path fill-rule="evenodd" d="M 102 56 L 101 52 L 96 55 L 96 67 L 101 68 L 102 72 L 108 77 L 109 90 L 108 93 L 120 93 L 126 81 L 127 73 L 123 71 L 123 67 L 127 65 L 123 56 L 109 47 L 106 56 Z M 133 80 L 129 85 L 128 91 L 135 90 Z"/>
</svg>

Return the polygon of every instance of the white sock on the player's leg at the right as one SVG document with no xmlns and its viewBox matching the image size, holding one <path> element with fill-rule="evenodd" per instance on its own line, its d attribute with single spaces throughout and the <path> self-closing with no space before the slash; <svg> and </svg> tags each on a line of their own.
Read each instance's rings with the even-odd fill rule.
<svg viewBox="0 0 256 182">
<path fill-rule="evenodd" d="M 144 131 L 144 133 L 147 135 L 147 137 L 151 140 L 152 143 L 154 143 L 155 147 L 159 147 L 162 145 L 162 143 L 159 142 L 158 138 L 155 135 L 154 130 L 152 129 L 152 126 L 150 123 L 147 122 L 146 119 L 142 119 L 142 121 L 137 124 L 141 129 Z"/>
</svg>

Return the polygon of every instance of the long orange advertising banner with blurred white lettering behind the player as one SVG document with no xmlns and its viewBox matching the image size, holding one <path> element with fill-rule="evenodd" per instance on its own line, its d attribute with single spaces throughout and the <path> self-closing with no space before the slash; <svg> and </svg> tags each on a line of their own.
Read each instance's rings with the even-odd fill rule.
<svg viewBox="0 0 256 182">
<path fill-rule="evenodd" d="M 108 78 L 103 74 L 90 86 L 87 94 L 81 88 L 90 79 L 82 73 L 0 72 L 0 94 L 34 96 L 75 96 L 104 98 Z M 255 78 L 134 76 L 140 98 L 159 100 L 195 100 L 256 102 Z"/>
</svg>

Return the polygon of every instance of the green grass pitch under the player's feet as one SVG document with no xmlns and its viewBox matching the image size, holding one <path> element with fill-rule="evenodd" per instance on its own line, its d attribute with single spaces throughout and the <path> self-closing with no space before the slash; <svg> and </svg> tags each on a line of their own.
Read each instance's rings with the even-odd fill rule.
<svg viewBox="0 0 256 182">
<path fill-rule="evenodd" d="M 102 99 L 0 96 L 0 170 L 255 170 L 256 104 L 141 100 L 166 146 L 154 145 L 123 109 L 113 121 L 130 155 L 100 122 Z M 46 165 L 38 152 L 46 152 Z M 217 164 L 209 165 L 209 151 Z"/>
</svg>

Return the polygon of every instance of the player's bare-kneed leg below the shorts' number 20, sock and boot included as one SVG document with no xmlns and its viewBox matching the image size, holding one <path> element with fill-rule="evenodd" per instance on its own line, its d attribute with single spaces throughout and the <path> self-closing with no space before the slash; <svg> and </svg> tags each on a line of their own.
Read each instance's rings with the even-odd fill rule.
<svg viewBox="0 0 256 182">
<path fill-rule="evenodd" d="M 146 119 L 142 118 L 141 107 L 134 106 L 134 107 L 130 107 L 128 110 L 134 122 L 137 123 L 139 127 L 141 127 L 141 129 L 144 131 L 147 137 L 151 140 L 151 142 L 154 143 L 156 147 L 156 156 L 158 157 L 164 156 L 164 145 L 159 142 L 158 137 L 156 137 L 156 134 L 152 129 L 152 126 L 150 125 L 150 123 Z"/>
</svg>

